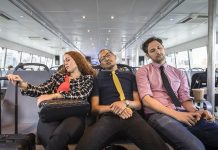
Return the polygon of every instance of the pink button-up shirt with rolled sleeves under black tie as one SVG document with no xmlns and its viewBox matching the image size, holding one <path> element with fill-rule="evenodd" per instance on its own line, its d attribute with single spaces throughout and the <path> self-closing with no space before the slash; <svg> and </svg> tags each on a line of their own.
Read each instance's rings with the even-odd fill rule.
<svg viewBox="0 0 218 150">
<path fill-rule="evenodd" d="M 175 105 L 164 88 L 160 75 L 160 66 L 160 64 L 151 63 L 144 65 L 137 71 L 136 81 L 139 95 L 141 99 L 143 99 L 144 96 L 149 95 L 158 100 L 164 106 L 175 109 Z M 190 100 L 189 86 L 185 73 L 177 68 L 167 65 L 166 63 L 164 64 L 164 71 L 179 101 L 182 103 L 183 101 Z M 145 107 L 144 110 L 145 113 L 153 112 L 147 107 Z"/>
</svg>

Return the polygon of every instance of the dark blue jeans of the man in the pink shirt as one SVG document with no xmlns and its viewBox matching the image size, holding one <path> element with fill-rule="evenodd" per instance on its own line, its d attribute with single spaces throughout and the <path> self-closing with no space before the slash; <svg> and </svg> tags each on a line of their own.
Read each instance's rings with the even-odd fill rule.
<svg viewBox="0 0 218 150">
<path fill-rule="evenodd" d="M 201 119 L 196 125 L 185 125 L 172 117 L 155 113 L 148 123 L 175 150 L 218 149 L 218 124 Z"/>
</svg>

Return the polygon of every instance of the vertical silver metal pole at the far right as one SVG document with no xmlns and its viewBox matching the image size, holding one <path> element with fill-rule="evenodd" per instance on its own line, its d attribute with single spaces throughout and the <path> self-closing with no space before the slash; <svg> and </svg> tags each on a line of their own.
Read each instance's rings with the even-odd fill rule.
<svg viewBox="0 0 218 150">
<path fill-rule="evenodd" d="M 208 1 L 208 59 L 207 59 L 207 100 L 215 105 L 215 46 L 216 46 L 216 0 Z"/>
</svg>

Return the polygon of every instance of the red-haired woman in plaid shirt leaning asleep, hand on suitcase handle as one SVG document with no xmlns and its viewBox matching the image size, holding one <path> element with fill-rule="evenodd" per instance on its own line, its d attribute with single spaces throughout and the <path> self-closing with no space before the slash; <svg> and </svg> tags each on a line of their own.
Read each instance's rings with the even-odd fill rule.
<svg viewBox="0 0 218 150">
<path fill-rule="evenodd" d="M 19 75 L 9 74 L 8 79 L 18 86 L 23 95 L 37 97 L 37 103 L 51 99 L 87 100 L 93 87 L 95 71 L 85 57 L 76 51 L 64 54 L 64 67 L 38 86 L 25 82 Z M 84 117 L 72 116 L 62 121 L 42 122 L 39 119 L 37 134 L 46 150 L 67 150 L 68 143 L 77 141 L 85 128 Z"/>
</svg>

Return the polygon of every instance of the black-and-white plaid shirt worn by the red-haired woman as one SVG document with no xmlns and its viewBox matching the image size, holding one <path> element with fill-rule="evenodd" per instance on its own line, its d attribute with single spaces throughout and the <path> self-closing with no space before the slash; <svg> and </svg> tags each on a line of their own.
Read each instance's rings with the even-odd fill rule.
<svg viewBox="0 0 218 150">
<path fill-rule="evenodd" d="M 43 94 L 56 93 L 58 87 L 65 81 L 66 74 L 56 73 L 49 80 L 38 86 L 28 84 L 26 90 L 21 90 L 23 95 L 38 97 Z M 93 88 L 92 75 L 80 75 L 77 79 L 70 80 L 70 90 L 59 91 L 64 99 L 87 99 Z"/>
</svg>

